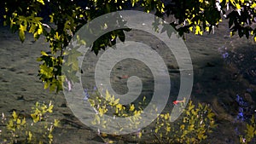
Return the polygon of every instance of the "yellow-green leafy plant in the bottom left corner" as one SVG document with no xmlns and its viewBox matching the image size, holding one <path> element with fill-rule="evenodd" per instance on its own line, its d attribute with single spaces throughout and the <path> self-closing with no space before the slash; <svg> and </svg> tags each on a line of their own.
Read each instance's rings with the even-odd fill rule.
<svg viewBox="0 0 256 144">
<path fill-rule="evenodd" d="M 54 105 L 49 101 L 49 104 L 40 104 L 36 102 L 35 107 L 32 107 L 31 114 L 28 118 L 22 114 L 13 111 L 10 117 L 2 114 L 2 124 L 5 125 L 1 130 L 1 143 L 49 143 L 53 142 L 52 132 L 55 127 L 59 126 L 59 120 L 54 119 L 49 122 L 49 113 L 53 112 Z"/>
</svg>

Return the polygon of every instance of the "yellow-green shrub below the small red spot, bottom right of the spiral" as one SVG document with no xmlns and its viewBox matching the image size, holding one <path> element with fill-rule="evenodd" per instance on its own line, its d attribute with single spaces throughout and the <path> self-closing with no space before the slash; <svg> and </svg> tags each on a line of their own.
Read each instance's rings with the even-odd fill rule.
<svg viewBox="0 0 256 144">
<path fill-rule="evenodd" d="M 155 135 L 159 143 L 201 143 L 216 127 L 215 114 L 208 105 L 198 103 L 196 107 L 192 101 L 183 110 L 183 119 L 170 122 L 170 114 L 160 114 L 156 119 Z"/>
</svg>

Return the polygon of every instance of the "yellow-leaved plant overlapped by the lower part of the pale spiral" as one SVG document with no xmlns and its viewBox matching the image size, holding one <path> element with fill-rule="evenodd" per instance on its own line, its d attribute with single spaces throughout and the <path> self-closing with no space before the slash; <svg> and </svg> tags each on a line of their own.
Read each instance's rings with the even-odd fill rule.
<svg viewBox="0 0 256 144">
<path fill-rule="evenodd" d="M 99 92 L 96 92 L 95 95 L 90 96 L 88 100 L 91 107 L 94 107 L 96 112 L 95 119 L 91 122 L 92 124 L 100 124 L 103 128 L 107 128 L 109 119 L 104 118 L 105 114 L 113 115 L 113 119 L 117 117 L 129 117 L 130 123 L 127 123 L 126 128 L 134 127 L 142 123 L 141 113 L 143 112 L 143 104 L 139 106 L 134 104 L 125 106 L 120 104 L 119 99 L 116 99 L 114 95 L 110 95 L 108 90 L 106 90 L 105 97 L 99 94 Z M 124 127 L 119 128 L 120 131 L 123 129 Z"/>
</svg>

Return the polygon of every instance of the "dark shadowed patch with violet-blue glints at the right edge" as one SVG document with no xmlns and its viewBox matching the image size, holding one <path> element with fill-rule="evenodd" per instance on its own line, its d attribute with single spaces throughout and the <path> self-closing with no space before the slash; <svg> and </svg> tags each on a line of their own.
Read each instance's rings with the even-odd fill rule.
<svg viewBox="0 0 256 144">
<path fill-rule="evenodd" d="M 249 40 L 242 43 L 235 39 L 216 47 L 215 58 L 194 65 L 192 100 L 211 104 L 217 115 L 218 129 L 212 133 L 210 143 L 239 143 L 245 123 L 255 114 L 256 47 Z M 238 96 L 247 103 L 242 112 Z"/>
</svg>

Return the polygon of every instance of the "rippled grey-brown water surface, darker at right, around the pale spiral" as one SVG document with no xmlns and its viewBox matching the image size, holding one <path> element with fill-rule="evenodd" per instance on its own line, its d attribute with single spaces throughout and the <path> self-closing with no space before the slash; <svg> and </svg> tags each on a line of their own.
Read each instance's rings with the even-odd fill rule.
<svg viewBox="0 0 256 144">
<path fill-rule="evenodd" d="M 210 104 L 217 115 L 218 127 L 209 135 L 206 143 L 233 144 L 239 143 L 239 135 L 245 129 L 245 124 L 256 110 L 256 44 L 253 39 L 245 37 L 229 37 L 227 24 L 222 23 L 214 34 L 195 36 L 187 34 L 185 43 L 189 49 L 194 69 L 194 85 L 191 100 Z M 162 43 L 147 34 L 127 32 L 127 38 L 147 41 L 168 63 L 172 79 L 172 90 L 165 111 L 172 107 L 179 90 L 179 72 L 177 62 L 170 53 L 161 48 Z M 36 101 L 53 101 L 53 115 L 61 119 L 61 128 L 55 130 L 54 143 L 103 143 L 96 131 L 75 118 L 67 107 L 65 96 L 44 90 L 44 85 L 38 79 L 37 61 L 41 50 L 49 51 L 49 44 L 40 37 L 34 41 L 31 35 L 26 35 L 26 41 L 20 43 L 17 33 L 9 32 L 7 27 L 0 27 L 0 112 L 6 115 L 14 110 L 30 112 Z M 90 55 L 84 63 L 82 75 L 84 88 L 92 88 L 95 55 Z M 142 62 L 136 60 L 120 61 L 113 67 L 110 75 L 113 89 L 119 94 L 125 94 L 127 77 L 136 75 L 142 78 L 143 94 L 150 95 L 154 88 L 152 73 Z M 246 102 L 247 105 L 244 105 Z M 242 112 L 242 115 L 241 115 Z M 3 127 L 3 126 L 2 126 Z M 147 128 L 145 128 L 147 129 Z M 149 129 L 149 128 L 148 128 Z M 0 127 L 1 130 L 1 127 Z M 116 140 L 115 137 L 109 139 Z M 1 139 L 0 139 L 1 142 Z M 253 140 L 255 142 L 255 140 Z M 252 143 L 253 143 L 252 142 Z M 137 143 L 130 141 L 129 136 L 122 135 L 116 143 Z"/>
</svg>

